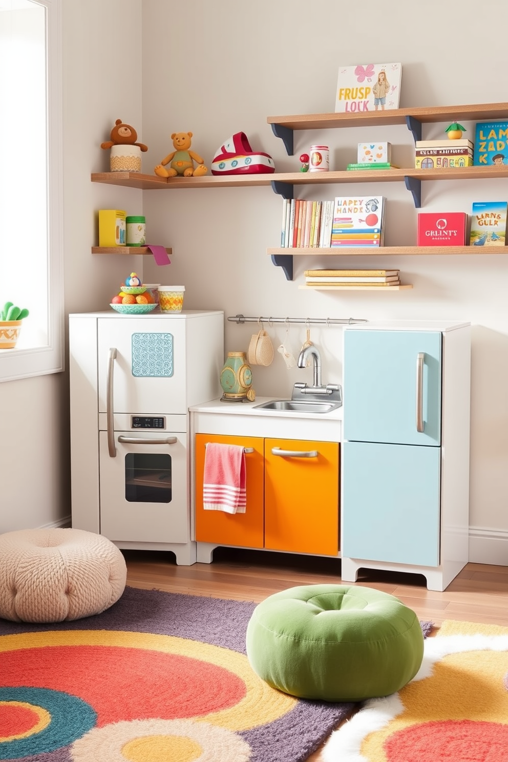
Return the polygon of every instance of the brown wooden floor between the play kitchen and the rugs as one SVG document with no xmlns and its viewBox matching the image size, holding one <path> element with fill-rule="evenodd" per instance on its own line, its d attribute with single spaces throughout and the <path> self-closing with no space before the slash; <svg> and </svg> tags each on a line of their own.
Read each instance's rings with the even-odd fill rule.
<svg viewBox="0 0 508 762">
<path fill-rule="evenodd" d="M 133 588 L 215 598 L 254 600 L 299 584 L 340 584 L 340 560 L 267 551 L 218 548 L 212 564 L 177 566 L 165 552 L 123 551 Z M 508 626 L 508 566 L 468 564 L 443 593 L 428 591 L 420 575 L 362 571 L 357 584 L 397 596 L 420 620 Z M 350 583 L 345 583 L 350 584 Z M 308 762 L 319 762 L 320 751 Z"/>
</svg>

